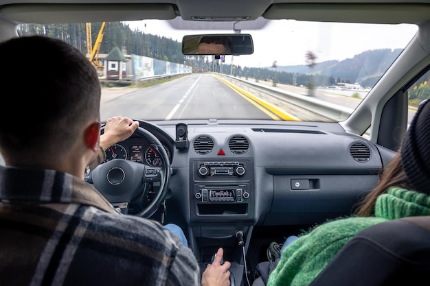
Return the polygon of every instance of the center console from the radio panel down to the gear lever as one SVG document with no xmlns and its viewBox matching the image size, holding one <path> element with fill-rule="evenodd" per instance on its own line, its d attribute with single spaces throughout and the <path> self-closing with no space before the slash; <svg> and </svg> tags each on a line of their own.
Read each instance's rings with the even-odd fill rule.
<svg viewBox="0 0 430 286">
<path fill-rule="evenodd" d="M 253 159 L 192 158 L 190 166 L 190 231 L 194 254 L 204 270 L 222 247 L 236 285 L 241 285 L 243 248 L 246 253 L 254 223 Z"/>
</svg>

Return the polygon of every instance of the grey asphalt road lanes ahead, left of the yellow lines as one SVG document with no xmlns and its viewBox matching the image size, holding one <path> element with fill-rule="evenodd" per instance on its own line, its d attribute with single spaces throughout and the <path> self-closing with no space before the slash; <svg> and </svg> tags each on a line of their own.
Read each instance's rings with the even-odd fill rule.
<svg viewBox="0 0 430 286">
<path fill-rule="evenodd" d="M 188 75 L 122 95 L 104 88 L 100 113 L 102 121 L 117 115 L 145 120 L 271 119 L 267 110 L 210 74 Z"/>
</svg>

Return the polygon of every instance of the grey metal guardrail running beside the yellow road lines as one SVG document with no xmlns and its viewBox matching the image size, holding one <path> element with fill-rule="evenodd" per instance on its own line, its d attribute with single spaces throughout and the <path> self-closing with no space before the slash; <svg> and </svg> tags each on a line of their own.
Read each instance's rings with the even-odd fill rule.
<svg viewBox="0 0 430 286">
<path fill-rule="evenodd" d="M 255 91 L 263 92 L 275 99 L 288 102 L 289 104 L 294 104 L 299 108 L 305 109 L 308 112 L 313 112 L 320 117 L 324 117 L 332 121 L 342 121 L 343 119 L 348 118 L 352 111 L 354 111 L 352 108 L 330 104 L 328 102 L 323 102 L 319 99 L 305 95 L 299 95 L 291 91 L 282 91 L 280 88 L 265 86 L 264 84 L 259 84 L 258 82 L 249 82 L 248 80 L 242 80 L 241 78 L 225 75 L 223 73 L 216 73 L 216 75 L 231 82 L 232 84 L 235 84 L 245 91 L 251 91 L 252 93 L 255 93 Z"/>
</svg>

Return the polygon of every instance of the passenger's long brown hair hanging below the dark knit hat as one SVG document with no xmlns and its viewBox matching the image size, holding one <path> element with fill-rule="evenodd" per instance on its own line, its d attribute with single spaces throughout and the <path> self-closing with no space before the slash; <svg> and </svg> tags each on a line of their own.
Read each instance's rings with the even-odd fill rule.
<svg viewBox="0 0 430 286">
<path fill-rule="evenodd" d="M 389 187 L 394 186 L 412 189 L 407 181 L 405 171 L 403 171 L 400 150 L 382 172 L 376 187 L 363 198 L 361 203 L 359 203 L 355 215 L 359 217 L 370 217 L 374 215 L 375 203 L 378 196 L 385 193 Z"/>
</svg>

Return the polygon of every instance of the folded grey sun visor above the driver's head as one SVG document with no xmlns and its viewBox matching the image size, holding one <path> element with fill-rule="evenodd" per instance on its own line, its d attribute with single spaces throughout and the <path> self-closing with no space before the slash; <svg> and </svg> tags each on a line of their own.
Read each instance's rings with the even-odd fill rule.
<svg viewBox="0 0 430 286">
<path fill-rule="evenodd" d="M 16 23 L 86 23 L 171 20 L 177 15 L 170 4 L 16 4 L 5 5 L 0 13 Z"/>
</svg>

